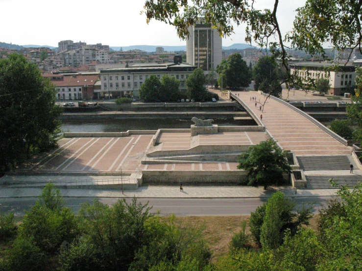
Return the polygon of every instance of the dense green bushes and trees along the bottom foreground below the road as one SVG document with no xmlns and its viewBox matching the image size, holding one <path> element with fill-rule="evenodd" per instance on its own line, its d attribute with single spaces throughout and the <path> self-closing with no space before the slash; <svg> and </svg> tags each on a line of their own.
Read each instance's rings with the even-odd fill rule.
<svg viewBox="0 0 362 271">
<path fill-rule="evenodd" d="M 276 192 L 251 213 L 227 255 L 211 263 L 201 226 L 151 214 L 147 204 L 83 203 L 78 216 L 49 183 L 15 226 L 0 215 L 1 271 L 324 271 L 362 269 L 362 186 L 342 188 L 306 227 L 311 205 L 296 208 Z"/>
</svg>

